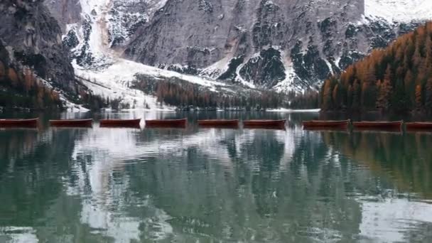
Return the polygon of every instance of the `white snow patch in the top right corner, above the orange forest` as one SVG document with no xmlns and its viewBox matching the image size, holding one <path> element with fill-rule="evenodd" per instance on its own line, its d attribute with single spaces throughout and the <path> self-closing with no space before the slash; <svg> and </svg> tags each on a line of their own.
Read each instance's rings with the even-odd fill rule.
<svg viewBox="0 0 432 243">
<path fill-rule="evenodd" d="M 365 16 L 389 22 L 432 19 L 431 0 L 365 0 Z"/>
</svg>

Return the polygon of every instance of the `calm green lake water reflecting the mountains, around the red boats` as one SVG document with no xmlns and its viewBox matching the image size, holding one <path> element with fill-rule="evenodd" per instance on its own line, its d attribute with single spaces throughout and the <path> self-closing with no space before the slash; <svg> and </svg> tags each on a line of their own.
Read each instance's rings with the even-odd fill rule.
<svg viewBox="0 0 432 243">
<path fill-rule="evenodd" d="M 0 242 L 432 242 L 432 133 L 303 131 L 318 114 L 84 115 L 185 116 L 186 129 L 48 127 L 58 114 L 1 129 Z M 195 124 L 216 117 L 288 123 Z"/>
</svg>

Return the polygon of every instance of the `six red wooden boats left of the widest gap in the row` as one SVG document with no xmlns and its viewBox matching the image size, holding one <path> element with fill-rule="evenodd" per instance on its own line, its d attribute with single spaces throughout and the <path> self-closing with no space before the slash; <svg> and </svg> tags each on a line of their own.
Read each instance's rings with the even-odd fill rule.
<svg viewBox="0 0 432 243">
<path fill-rule="evenodd" d="M 185 127 L 187 119 L 156 119 L 145 120 L 146 126 L 172 126 Z M 93 119 L 62 119 L 50 120 L 50 126 L 92 126 Z M 102 119 L 99 125 L 102 127 L 139 127 L 141 119 Z M 243 121 L 247 127 L 284 127 L 286 120 L 248 120 Z M 198 120 L 200 126 L 239 126 L 238 119 L 232 120 Z M 37 126 L 38 118 L 35 119 L 0 119 L 0 126 Z"/>
</svg>

